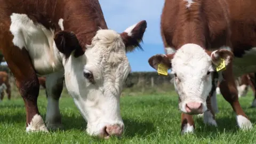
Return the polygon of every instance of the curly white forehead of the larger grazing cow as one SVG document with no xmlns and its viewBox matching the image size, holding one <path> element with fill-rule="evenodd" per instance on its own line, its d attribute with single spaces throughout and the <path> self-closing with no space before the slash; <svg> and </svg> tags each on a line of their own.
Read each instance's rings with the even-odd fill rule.
<svg viewBox="0 0 256 144">
<path fill-rule="evenodd" d="M 114 30 L 100 29 L 87 45 L 85 68 L 95 69 L 111 75 L 123 75 L 130 72 L 129 61 L 126 57 L 125 45 L 120 34 Z"/>
</svg>

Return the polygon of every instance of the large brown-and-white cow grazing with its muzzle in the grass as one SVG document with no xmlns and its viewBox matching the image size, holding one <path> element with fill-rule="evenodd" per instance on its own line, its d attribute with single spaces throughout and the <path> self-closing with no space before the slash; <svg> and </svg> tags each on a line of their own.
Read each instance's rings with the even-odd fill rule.
<svg viewBox="0 0 256 144">
<path fill-rule="evenodd" d="M 26 131 L 49 132 L 61 125 L 59 97 L 64 76 L 69 94 L 87 121 L 86 132 L 106 139 L 121 136 L 124 123 L 119 101 L 131 71 L 126 53 L 142 49 L 147 22 L 139 21 L 117 33 L 108 29 L 97 0 L 0 3 L 0 47 L 25 101 Z M 37 107 L 37 75 L 46 76 L 46 124 Z"/>
</svg>

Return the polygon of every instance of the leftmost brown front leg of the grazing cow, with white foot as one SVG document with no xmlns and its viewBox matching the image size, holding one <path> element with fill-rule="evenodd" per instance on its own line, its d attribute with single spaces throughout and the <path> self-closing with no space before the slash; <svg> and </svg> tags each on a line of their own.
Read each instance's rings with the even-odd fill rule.
<svg viewBox="0 0 256 144">
<path fill-rule="evenodd" d="M 12 39 L 5 35 L 6 39 Z M 45 131 L 48 132 L 44 120 L 39 114 L 37 107 L 37 97 L 39 93 L 39 82 L 36 71 L 30 61 L 29 54 L 25 48 L 20 49 L 10 41 L 5 41 L 3 45 L 9 46 L 2 49 L 4 58 L 11 69 L 19 92 L 25 102 L 27 115 L 27 132 L 28 131 Z M 15 55 L 15 57 L 13 57 Z"/>
</svg>

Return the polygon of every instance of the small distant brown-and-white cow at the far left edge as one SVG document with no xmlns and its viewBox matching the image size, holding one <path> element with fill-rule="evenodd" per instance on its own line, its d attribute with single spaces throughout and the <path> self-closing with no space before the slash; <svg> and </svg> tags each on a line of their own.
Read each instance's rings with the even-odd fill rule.
<svg viewBox="0 0 256 144">
<path fill-rule="evenodd" d="M 4 90 L 6 90 L 7 93 L 7 98 L 8 100 L 11 99 L 11 85 L 9 82 L 9 75 L 5 71 L 0 71 L 0 85 L 2 86 L 1 88 L 1 97 L 0 101 L 3 100 L 4 98 Z"/>
</svg>

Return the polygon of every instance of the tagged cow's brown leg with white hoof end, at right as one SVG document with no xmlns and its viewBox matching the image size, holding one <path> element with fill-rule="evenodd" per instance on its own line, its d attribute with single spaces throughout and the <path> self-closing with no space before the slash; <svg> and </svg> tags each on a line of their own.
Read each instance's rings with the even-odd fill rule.
<svg viewBox="0 0 256 144">
<path fill-rule="evenodd" d="M 236 121 L 241 129 L 251 129 L 252 123 L 245 115 L 239 101 L 234 76 L 230 75 L 233 71 L 225 70 L 222 72 L 223 81 L 220 83 L 220 91 L 223 97 L 230 103 L 236 113 Z"/>
</svg>

